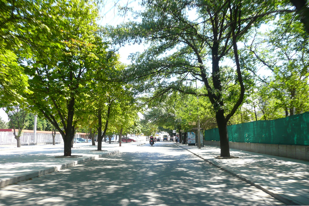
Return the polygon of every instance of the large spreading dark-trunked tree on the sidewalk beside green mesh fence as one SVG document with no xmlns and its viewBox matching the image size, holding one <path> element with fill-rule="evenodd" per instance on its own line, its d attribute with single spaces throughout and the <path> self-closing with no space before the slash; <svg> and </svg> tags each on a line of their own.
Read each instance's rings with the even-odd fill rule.
<svg viewBox="0 0 309 206">
<path fill-rule="evenodd" d="M 260 3 L 260 4 L 259 4 Z M 142 88 L 155 95 L 171 90 L 197 95 L 186 86 L 190 79 L 205 85 L 199 96 L 208 97 L 215 111 L 222 157 L 229 157 L 227 122 L 248 96 L 252 85 L 238 42 L 265 17 L 288 11 L 273 1 L 143 1 L 145 11 L 137 12 L 141 22 L 129 22 L 112 32 L 116 42 L 149 44 L 133 56 L 129 74 L 142 79 Z M 234 67 L 224 65 L 228 59 Z M 211 64 L 208 64 L 211 62 Z M 210 65 L 210 67 L 209 67 Z M 171 81 L 170 78 L 177 79 Z M 149 89 L 148 89 L 149 88 Z M 156 96 L 156 97 L 157 97 Z"/>
</svg>

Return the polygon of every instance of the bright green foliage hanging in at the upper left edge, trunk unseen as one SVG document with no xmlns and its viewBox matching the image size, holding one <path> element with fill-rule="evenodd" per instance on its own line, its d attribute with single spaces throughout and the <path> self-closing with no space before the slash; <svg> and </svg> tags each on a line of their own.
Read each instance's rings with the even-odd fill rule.
<svg viewBox="0 0 309 206">
<path fill-rule="evenodd" d="M 44 53 L 50 22 L 57 27 L 57 15 L 65 1 L 7 0 L 0 2 L 0 107 L 17 105 L 24 100 L 28 77 L 23 70 L 23 58 Z M 58 25 L 59 26 L 59 25 Z M 50 41 L 49 44 L 53 44 Z M 40 49 L 38 49 L 40 48 Z"/>
</svg>

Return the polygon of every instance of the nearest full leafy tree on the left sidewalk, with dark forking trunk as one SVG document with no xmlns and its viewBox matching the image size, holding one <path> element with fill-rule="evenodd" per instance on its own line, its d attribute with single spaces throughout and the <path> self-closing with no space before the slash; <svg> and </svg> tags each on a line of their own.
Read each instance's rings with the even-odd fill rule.
<svg viewBox="0 0 309 206">
<path fill-rule="evenodd" d="M 89 92 L 87 82 L 99 69 L 95 63 L 99 54 L 106 53 L 106 44 L 98 35 L 95 2 L 74 0 L 57 6 L 62 15 L 55 29 L 60 31 L 50 36 L 49 41 L 55 43 L 47 44 L 54 53 L 27 61 L 29 85 L 34 92 L 27 99 L 32 109 L 61 133 L 64 156 L 71 156 L 71 142 L 79 117 L 83 116 L 83 98 Z"/>
</svg>

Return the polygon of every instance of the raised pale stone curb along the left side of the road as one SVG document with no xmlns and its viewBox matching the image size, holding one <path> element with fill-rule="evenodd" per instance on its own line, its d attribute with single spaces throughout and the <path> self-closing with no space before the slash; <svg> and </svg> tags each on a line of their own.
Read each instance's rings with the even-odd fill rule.
<svg viewBox="0 0 309 206">
<path fill-rule="evenodd" d="M 30 178 L 37 177 L 37 176 L 47 174 L 47 173 L 50 173 L 50 172 L 59 171 L 59 170 L 62 170 L 66 167 L 71 167 L 71 166 L 74 166 L 74 165 L 77 165 L 77 164 L 81 164 L 83 162 L 88 162 L 88 161 L 91 161 L 91 160 L 94 160 L 94 159 L 97 159 L 97 158 L 101 158 L 101 157 L 104 157 L 104 156 L 107 156 L 107 155 L 115 154 L 115 153 L 118 153 L 118 152 L 119 152 L 119 150 L 112 150 L 112 151 L 109 151 L 109 152 L 104 152 L 103 154 L 95 154 L 91 157 L 82 157 L 82 159 L 70 161 L 70 162 L 65 163 L 65 164 L 59 164 L 59 165 L 49 167 L 49 168 L 45 168 L 45 169 L 42 169 L 42 170 L 32 171 L 32 172 L 29 172 L 28 174 L 25 173 L 25 174 L 17 176 L 17 177 L 1 179 L 0 180 L 0 187 L 4 187 L 6 185 L 11 185 L 11 184 L 14 184 L 14 183 L 17 183 L 17 182 L 20 182 L 20 181 L 28 180 Z"/>
</svg>

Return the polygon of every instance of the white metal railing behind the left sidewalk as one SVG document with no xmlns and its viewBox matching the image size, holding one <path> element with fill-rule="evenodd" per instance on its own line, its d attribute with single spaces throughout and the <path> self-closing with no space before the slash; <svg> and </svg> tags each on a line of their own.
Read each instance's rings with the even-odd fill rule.
<svg viewBox="0 0 309 206">
<path fill-rule="evenodd" d="M 75 134 L 78 136 L 78 134 Z M 78 136 L 79 137 L 79 136 Z M 23 132 L 20 136 L 21 144 L 34 144 L 34 134 L 29 132 Z M 56 134 L 55 137 L 56 143 L 63 143 L 63 139 L 61 134 Z M 36 133 L 36 143 L 53 143 L 52 134 L 48 133 Z M 9 144 L 17 144 L 17 141 L 14 137 L 13 132 L 0 132 L 0 145 L 9 145 Z"/>
</svg>

